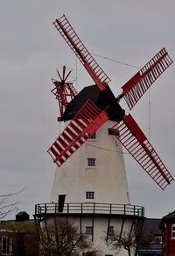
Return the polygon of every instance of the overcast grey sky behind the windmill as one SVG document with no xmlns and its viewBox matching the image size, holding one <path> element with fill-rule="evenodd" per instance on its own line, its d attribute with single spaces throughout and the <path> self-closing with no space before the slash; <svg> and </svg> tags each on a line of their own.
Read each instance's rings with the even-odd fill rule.
<svg viewBox="0 0 175 256">
<path fill-rule="evenodd" d="M 143 67 L 165 47 L 175 60 L 174 0 L 6 0 L 0 1 L 0 194 L 25 191 L 13 198 L 31 216 L 48 202 L 55 165 L 46 153 L 59 135 L 58 105 L 51 78 L 63 65 L 73 69 L 80 91 L 94 84 L 57 30 L 62 14 L 91 53 Z M 96 57 L 116 93 L 138 69 Z M 175 64 L 151 86 L 132 115 L 175 177 Z M 175 210 L 175 182 L 162 191 L 129 154 L 125 154 L 130 201 L 145 207 L 147 217 Z M 108 160 L 108 159 L 107 159 Z M 14 216 L 14 215 L 13 215 Z M 13 217 L 11 216 L 11 217 Z"/>
</svg>

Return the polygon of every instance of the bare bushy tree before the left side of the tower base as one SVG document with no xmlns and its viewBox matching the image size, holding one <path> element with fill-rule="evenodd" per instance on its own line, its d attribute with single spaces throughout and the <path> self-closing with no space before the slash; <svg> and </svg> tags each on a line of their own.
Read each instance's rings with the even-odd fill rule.
<svg viewBox="0 0 175 256">
<path fill-rule="evenodd" d="M 45 223 L 39 232 L 39 244 L 42 256 L 77 256 L 81 252 L 97 255 L 88 237 L 65 219 Z"/>
</svg>

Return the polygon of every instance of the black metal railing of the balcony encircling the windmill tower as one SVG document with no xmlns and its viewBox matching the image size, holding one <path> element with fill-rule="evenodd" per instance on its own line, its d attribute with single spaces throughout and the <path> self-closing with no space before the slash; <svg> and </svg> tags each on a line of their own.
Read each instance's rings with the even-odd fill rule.
<svg viewBox="0 0 175 256">
<path fill-rule="evenodd" d="M 65 203 L 62 211 L 59 211 L 58 203 L 39 203 L 35 205 L 35 215 L 50 214 L 111 214 L 143 216 L 144 207 L 130 204 L 114 203 Z"/>
</svg>

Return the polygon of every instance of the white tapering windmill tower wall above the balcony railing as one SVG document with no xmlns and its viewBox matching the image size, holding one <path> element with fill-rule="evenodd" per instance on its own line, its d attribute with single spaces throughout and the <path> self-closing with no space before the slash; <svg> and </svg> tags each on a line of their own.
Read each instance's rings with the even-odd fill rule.
<svg viewBox="0 0 175 256">
<path fill-rule="evenodd" d="M 130 203 L 123 148 L 108 131 L 114 124 L 107 121 L 95 140 L 88 140 L 56 168 L 51 201 L 57 202 L 59 194 L 66 194 L 66 202 Z M 88 157 L 96 158 L 95 167 L 88 167 Z M 86 191 L 95 191 L 95 199 L 87 200 Z"/>
</svg>

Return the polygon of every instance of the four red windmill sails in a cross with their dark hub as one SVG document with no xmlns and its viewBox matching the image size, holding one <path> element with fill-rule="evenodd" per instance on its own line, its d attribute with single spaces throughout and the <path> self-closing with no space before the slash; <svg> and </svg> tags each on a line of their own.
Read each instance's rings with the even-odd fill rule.
<svg viewBox="0 0 175 256">
<path fill-rule="evenodd" d="M 134 77 L 124 84 L 122 93 L 115 97 L 109 88 L 109 77 L 88 52 L 66 16 L 57 18 L 53 25 L 87 69 L 106 101 L 102 108 L 96 106 L 91 99 L 81 106 L 80 111 L 73 116 L 72 121 L 49 148 L 48 153 L 53 162 L 58 166 L 63 165 L 88 140 L 90 135 L 93 135 L 110 119 L 116 121 L 116 124 L 110 128 L 110 132 L 116 136 L 117 140 L 123 144 L 123 147 L 130 152 L 130 155 L 137 160 L 137 163 L 158 186 L 165 189 L 173 180 L 171 173 L 168 172 L 131 114 L 125 114 L 119 105 L 119 101 L 125 99 L 131 110 L 151 84 L 172 64 L 172 59 L 165 48 L 161 49 L 150 62 L 147 62 Z M 64 95 L 64 91 L 62 92 Z M 64 115 L 64 113 L 61 114 Z"/>
</svg>

